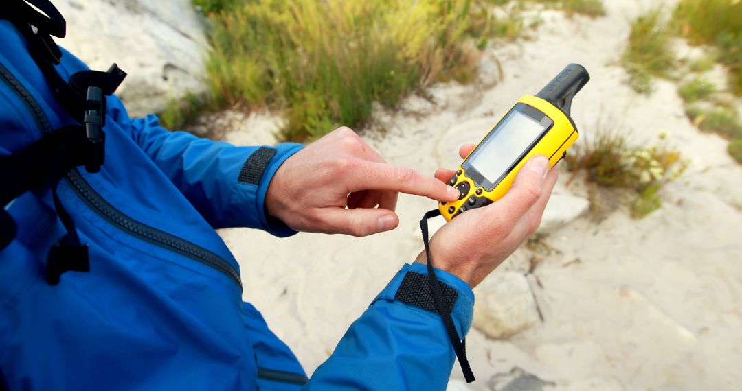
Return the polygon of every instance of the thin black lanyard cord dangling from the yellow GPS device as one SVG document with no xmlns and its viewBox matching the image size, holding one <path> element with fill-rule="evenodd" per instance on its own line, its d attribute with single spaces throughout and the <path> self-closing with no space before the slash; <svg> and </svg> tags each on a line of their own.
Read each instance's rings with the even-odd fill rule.
<svg viewBox="0 0 742 391">
<path fill-rule="evenodd" d="M 427 220 L 439 215 L 441 215 L 440 210 L 430 210 L 429 212 L 425 213 L 423 218 L 420 220 L 422 243 L 425 246 L 425 258 L 427 260 L 427 276 L 430 280 L 430 293 L 433 295 L 433 301 L 436 302 L 438 313 L 441 314 L 441 318 L 443 319 L 443 324 L 446 327 L 448 338 L 453 345 L 453 351 L 456 352 L 456 357 L 459 358 L 459 365 L 461 365 L 462 372 L 464 372 L 464 378 L 466 379 L 467 383 L 471 383 L 476 379 L 474 378 L 474 373 L 471 371 L 471 367 L 469 366 L 469 360 L 466 358 L 466 338 L 459 341 L 459 333 L 456 332 L 456 326 L 453 324 L 451 311 L 446 303 L 445 298 L 443 297 L 443 292 L 441 291 L 441 287 L 439 286 L 436 272 L 433 270 L 432 255 L 430 255 L 430 244 L 428 243 L 427 237 Z"/>
</svg>

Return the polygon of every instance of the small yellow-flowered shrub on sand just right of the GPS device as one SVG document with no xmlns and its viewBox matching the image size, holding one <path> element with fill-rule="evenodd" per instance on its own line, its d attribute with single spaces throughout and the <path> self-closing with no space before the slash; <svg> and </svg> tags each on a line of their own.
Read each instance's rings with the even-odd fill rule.
<svg viewBox="0 0 742 391">
<path fill-rule="evenodd" d="M 568 155 L 567 167 L 584 171 L 588 182 L 601 187 L 627 190 L 631 215 L 642 218 L 661 207 L 660 190 L 680 177 L 687 163 L 663 145 L 630 147 L 621 133 L 603 131 Z"/>
</svg>

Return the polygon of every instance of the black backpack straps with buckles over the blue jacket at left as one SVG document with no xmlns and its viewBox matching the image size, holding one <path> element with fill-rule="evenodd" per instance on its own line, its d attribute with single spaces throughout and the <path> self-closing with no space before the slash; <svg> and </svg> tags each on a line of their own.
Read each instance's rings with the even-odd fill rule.
<svg viewBox="0 0 742 391">
<path fill-rule="evenodd" d="M 47 281 L 55 285 L 66 271 L 90 270 L 88 245 L 81 244 L 75 224 L 65 210 L 57 184 L 75 167 L 85 165 L 88 173 L 97 173 L 105 162 L 106 96 L 114 93 L 126 77 L 116 64 L 106 72 L 83 70 L 65 81 L 56 71 L 62 50 L 52 36 L 66 35 L 66 21 L 49 0 L 5 0 L 0 7 L 0 19 L 8 19 L 28 42 L 29 53 L 56 94 L 62 108 L 82 125 L 62 127 L 47 134 L 30 146 L 0 157 L 0 250 L 16 236 L 17 226 L 4 209 L 19 195 L 50 186 L 54 207 L 65 226 L 65 233 L 53 244 L 47 255 Z M 39 13 L 33 7 L 41 10 Z"/>
</svg>

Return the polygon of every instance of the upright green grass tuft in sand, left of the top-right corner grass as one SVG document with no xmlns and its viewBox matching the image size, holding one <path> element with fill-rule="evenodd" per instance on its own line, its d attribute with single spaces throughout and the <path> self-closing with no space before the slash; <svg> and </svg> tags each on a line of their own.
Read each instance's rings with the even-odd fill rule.
<svg viewBox="0 0 742 391">
<path fill-rule="evenodd" d="M 663 21 L 662 8 L 631 21 L 631 33 L 621 64 L 626 68 L 629 84 L 638 93 L 650 93 L 653 77 L 667 77 L 675 59 L 669 48 L 672 34 Z"/>
</svg>

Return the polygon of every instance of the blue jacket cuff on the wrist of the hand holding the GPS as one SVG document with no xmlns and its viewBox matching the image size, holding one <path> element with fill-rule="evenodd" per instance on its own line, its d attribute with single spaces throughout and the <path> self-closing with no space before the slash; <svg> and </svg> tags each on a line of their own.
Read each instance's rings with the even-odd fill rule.
<svg viewBox="0 0 742 391">
<path fill-rule="evenodd" d="M 456 277 L 456 275 L 435 267 L 433 269 L 436 270 L 436 277 L 441 284 L 444 298 L 449 302 L 456 331 L 463 339 L 471 327 L 474 313 L 474 293 L 469 284 Z M 424 278 L 421 278 L 421 276 L 424 276 Z M 378 300 L 388 300 L 437 313 L 438 311 L 433 304 L 433 295 L 430 294 L 429 281 L 426 265 L 406 264 L 387 284 L 387 287 L 376 296 L 372 305 Z"/>
</svg>

